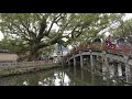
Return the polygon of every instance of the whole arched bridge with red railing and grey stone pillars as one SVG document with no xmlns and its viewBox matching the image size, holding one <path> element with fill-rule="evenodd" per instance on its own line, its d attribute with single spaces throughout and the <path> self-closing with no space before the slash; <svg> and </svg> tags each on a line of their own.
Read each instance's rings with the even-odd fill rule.
<svg viewBox="0 0 132 99">
<path fill-rule="evenodd" d="M 90 62 L 91 67 L 95 66 L 96 59 L 101 59 L 105 63 L 106 72 L 111 72 L 111 68 L 122 69 L 121 64 L 124 64 L 127 81 L 132 78 L 132 47 L 125 45 L 106 44 L 106 43 L 94 43 L 94 44 L 80 44 L 70 50 L 64 62 L 68 66 L 76 67 L 79 65 L 84 67 L 86 62 Z M 117 62 L 118 66 L 111 67 L 109 63 Z M 121 64 L 120 64 L 121 63 Z M 102 67 L 101 67 L 102 70 Z M 113 70 L 113 69 L 112 69 Z M 114 69 L 116 72 L 116 69 Z M 113 73 L 114 73 L 113 72 Z"/>
</svg>

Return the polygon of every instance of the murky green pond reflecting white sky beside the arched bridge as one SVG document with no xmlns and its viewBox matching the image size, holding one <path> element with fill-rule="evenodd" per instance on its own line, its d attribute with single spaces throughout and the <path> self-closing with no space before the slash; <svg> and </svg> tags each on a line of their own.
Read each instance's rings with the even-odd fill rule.
<svg viewBox="0 0 132 99">
<path fill-rule="evenodd" d="M 124 84 L 79 67 L 54 68 L 0 78 L 0 86 L 120 86 Z"/>
</svg>

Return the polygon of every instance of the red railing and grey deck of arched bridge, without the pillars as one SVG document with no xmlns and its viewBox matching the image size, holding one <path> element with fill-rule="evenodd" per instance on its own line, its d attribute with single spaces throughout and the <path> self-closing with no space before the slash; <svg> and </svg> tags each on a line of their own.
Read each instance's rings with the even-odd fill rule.
<svg viewBox="0 0 132 99">
<path fill-rule="evenodd" d="M 94 44 L 80 44 L 70 50 L 65 56 L 65 61 L 70 61 L 76 57 L 82 57 L 86 55 L 103 56 L 105 58 L 114 59 L 117 62 L 127 63 L 132 65 L 132 47 L 117 44 L 94 43 Z M 82 64 L 80 63 L 80 66 Z M 82 66 L 81 66 L 82 67 Z"/>
</svg>

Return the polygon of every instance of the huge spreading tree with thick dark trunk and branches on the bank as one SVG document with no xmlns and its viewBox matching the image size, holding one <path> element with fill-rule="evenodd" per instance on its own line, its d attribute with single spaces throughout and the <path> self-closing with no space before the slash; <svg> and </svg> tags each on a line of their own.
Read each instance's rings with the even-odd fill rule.
<svg viewBox="0 0 132 99">
<path fill-rule="evenodd" d="M 55 43 L 68 45 L 88 30 L 89 34 L 101 31 L 106 28 L 103 26 L 106 22 L 110 22 L 109 15 L 107 13 L 1 13 L 0 31 L 4 36 L 20 42 L 18 46 L 22 46 L 22 51 L 28 53 L 28 59 L 33 61 L 43 47 Z M 98 24 L 100 22 L 103 24 Z M 90 33 L 95 31 L 94 29 L 98 31 Z"/>
</svg>

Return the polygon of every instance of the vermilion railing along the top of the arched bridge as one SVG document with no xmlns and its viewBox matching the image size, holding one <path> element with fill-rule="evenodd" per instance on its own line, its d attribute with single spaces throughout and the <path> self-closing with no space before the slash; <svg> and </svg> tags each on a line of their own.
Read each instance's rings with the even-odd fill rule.
<svg viewBox="0 0 132 99">
<path fill-rule="evenodd" d="M 79 51 L 85 50 L 92 50 L 92 51 L 112 51 L 113 53 L 116 51 L 123 52 L 123 53 L 131 53 L 132 54 L 132 47 L 131 46 L 117 46 L 116 44 L 106 44 L 106 43 L 94 43 L 94 44 L 80 44 L 77 47 L 74 47 L 70 50 L 70 53 L 68 53 L 66 56 L 69 56 L 70 54 L 75 54 Z"/>
</svg>

